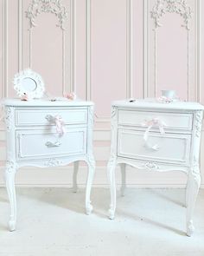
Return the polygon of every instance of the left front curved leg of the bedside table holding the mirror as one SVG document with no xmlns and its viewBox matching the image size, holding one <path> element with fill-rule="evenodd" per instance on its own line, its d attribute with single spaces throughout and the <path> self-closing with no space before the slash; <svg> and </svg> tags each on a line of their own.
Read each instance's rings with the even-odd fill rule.
<svg viewBox="0 0 204 256">
<path fill-rule="evenodd" d="M 15 174 L 16 164 L 14 162 L 7 162 L 5 168 L 5 183 L 10 200 L 10 220 L 9 229 L 14 231 L 16 229 L 16 189 L 15 189 Z"/>
</svg>

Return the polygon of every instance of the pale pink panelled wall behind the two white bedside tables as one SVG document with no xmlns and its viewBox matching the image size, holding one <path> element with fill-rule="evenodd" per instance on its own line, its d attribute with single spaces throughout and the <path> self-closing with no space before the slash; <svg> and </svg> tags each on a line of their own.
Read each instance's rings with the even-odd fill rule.
<svg viewBox="0 0 204 256">
<path fill-rule="evenodd" d="M 74 1 L 75 17 L 71 18 L 73 9 L 71 0 L 61 1 L 67 8 L 68 19 L 65 30 L 65 89 L 67 92 L 74 89 L 80 98 L 87 99 L 87 90 L 90 90 L 91 99 L 95 102 L 96 123 L 94 130 L 94 154 L 98 167 L 103 167 L 105 174 L 106 161 L 110 154 L 110 114 L 111 102 L 125 98 L 127 84 L 127 10 L 130 0 L 92 0 L 91 3 L 91 34 L 86 31 L 86 0 Z M 25 17 L 30 0 L 1 0 L 0 1 L 0 97 L 16 96 L 12 79 L 19 69 L 29 68 L 29 22 Z M 130 1 L 131 2 L 131 1 Z M 163 27 L 157 30 L 157 86 L 154 88 L 154 22 L 150 17 L 150 10 L 156 0 L 132 0 L 132 97 L 158 96 L 161 89 L 175 89 L 177 95 L 187 99 L 187 31 L 181 26 L 182 17 L 176 14 L 163 16 Z M 196 60 L 196 30 L 198 0 L 188 0 L 193 15 L 190 23 L 190 84 L 189 99 L 204 103 L 204 3 L 201 0 L 201 74 L 197 74 Z M 6 24 L 4 23 L 4 10 L 7 3 L 8 10 L 8 42 L 5 38 Z M 23 9 L 19 9 L 23 6 Z M 144 5 L 144 3 L 149 3 Z M 143 6 L 149 9 L 143 9 Z M 19 16 L 20 14 L 20 16 Z M 143 26 L 144 17 L 148 18 L 148 30 Z M 71 19 L 72 22 L 71 23 Z M 36 19 L 36 28 L 33 30 L 32 40 L 32 69 L 39 72 L 45 83 L 47 91 L 52 95 L 62 95 L 62 32 L 56 27 L 57 18 L 51 14 L 42 14 Z M 71 35 L 71 27 L 75 33 Z M 74 36 L 74 37 L 73 37 Z M 86 42 L 90 39 L 90 69 L 86 62 Z M 144 41 L 144 39 L 146 41 Z M 89 40 L 88 40 L 89 41 Z M 146 45 L 145 42 L 148 42 Z M 7 43 L 7 46 L 5 45 Z M 71 48 L 71 45 L 74 48 Z M 7 56 L 5 49 L 7 49 Z M 74 49 L 74 52 L 73 52 Z M 148 58 L 144 59 L 148 52 Z M 73 59 L 72 59 L 73 58 Z M 7 67 L 5 69 L 5 60 Z M 144 68 L 148 67 L 148 70 Z M 144 73 L 144 71 L 148 71 Z M 87 84 L 87 72 L 90 84 Z M 146 77 L 144 75 L 146 74 Z M 71 82 L 73 77 L 73 82 Z M 144 79 L 146 78 L 146 79 Z M 200 78 L 200 87 L 197 81 Z M 145 84 L 145 81 L 148 81 Z M 8 92 L 8 93 L 7 93 Z M 0 130 L 0 161 L 4 161 L 4 134 Z M 202 142 L 202 145 L 203 142 Z M 202 146 L 204 149 L 204 146 Z M 201 154 L 203 152 L 201 151 Z M 202 158 L 201 158 L 202 159 Z M 201 160 L 201 166 L 204 162 Z M 40 174 L 38 174 L 40 175 Z M 156 174 L 157 175 L 157 174 Z M 183 182 L 176 174 L 163 174 L 159 177 L 160 183 Z M 158 178 L 157 176 L 156 179 Z M 25 176 L 24 176 L 25 177 Z M 36 176 L 33 176 L 35 179 Z M 39 176 L 40 177 L 40 176 Z M 86 177 L 86 176 L 83 176 Z M 99 183 L 105 182 L 99 174 Z M 104 177 L 104 176 L 103 176 Z M 131 176 L 133 177 L 133 176 Z M 168 177 L 173 177 L 168 178 Z M 63 178 L 63 177 L 62 177 Z M 40 178 L 39 178 L 40 179 Z M 40 180 L 36 181 L 39 181 Z M 152 180 L 150 174 L 141 179 L 129 180 L 129 183 L 149 184 Z M 62 179 L 63 180 L 63 179 Z M 58 180 L 57 180 L 58 181 Z M 42 180 L 41 180 L 42 182 Z"/>
</svg>

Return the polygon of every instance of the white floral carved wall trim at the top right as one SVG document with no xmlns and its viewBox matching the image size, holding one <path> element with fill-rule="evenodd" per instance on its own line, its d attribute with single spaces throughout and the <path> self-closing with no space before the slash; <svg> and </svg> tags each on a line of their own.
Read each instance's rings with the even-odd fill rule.
<svg viewBox="0 0 204 256">
<path fill-rule="evenodd" d="M 183 18 L 183 27 L 189 30 L 189 21 L 192 18 L 191 7 L 186 0 L 157 0 L 151 10 L 151 17 L 155 20 L 155 28 L 161 27 L 161 17 L 166 13 L 177 13 Z"/>
</svg>

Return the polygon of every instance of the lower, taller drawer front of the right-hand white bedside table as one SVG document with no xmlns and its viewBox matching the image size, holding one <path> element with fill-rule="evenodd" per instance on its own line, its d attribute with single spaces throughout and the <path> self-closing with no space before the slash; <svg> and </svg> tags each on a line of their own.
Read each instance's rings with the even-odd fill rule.
<svg viewBox="0 0 204 256">
<path fill-rule="evenodd" d="M 148 148 L 143 140 L 142 131 L 118 130 L 118 156 L 149 161 L 161 161 L 188 165 L 191 135 L 150 133 Z"/>
</svg>

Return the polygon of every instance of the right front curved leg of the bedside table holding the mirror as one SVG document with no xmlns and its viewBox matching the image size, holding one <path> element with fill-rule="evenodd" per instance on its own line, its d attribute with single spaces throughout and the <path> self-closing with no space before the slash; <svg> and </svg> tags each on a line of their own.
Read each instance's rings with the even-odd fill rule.
<svg viewBox="0 0 204 256">
<path fill-rule="evenodd" d="M 95 173 L 95 161 L 93 157 L 89 158 L 88 161 L 88 176 L 86 181 L 86 214 L 92 213 L 92 204 L 91 204 L 91 190 L 92 190 L 92 181 Z"/>
</svg>

